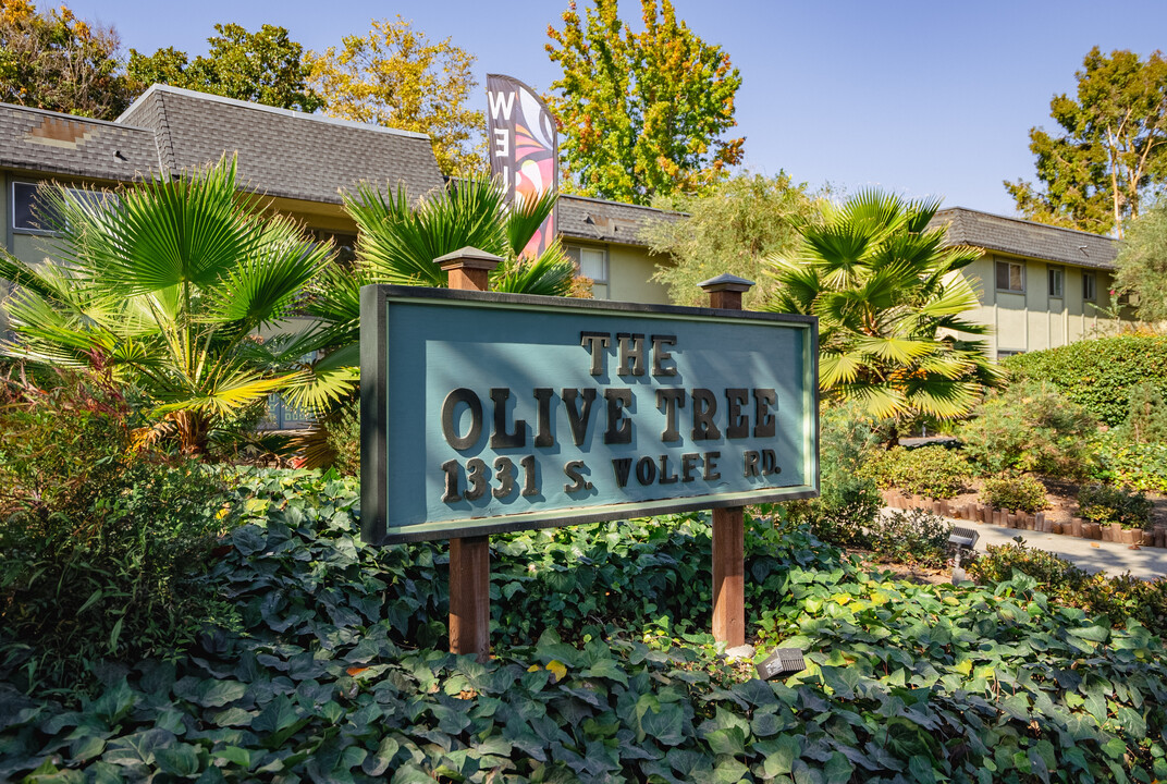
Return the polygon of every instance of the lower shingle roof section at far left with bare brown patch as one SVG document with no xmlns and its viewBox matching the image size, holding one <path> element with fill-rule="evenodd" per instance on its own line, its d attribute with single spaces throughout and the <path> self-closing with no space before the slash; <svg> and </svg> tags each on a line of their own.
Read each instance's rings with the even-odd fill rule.
<svg viewBox="0 0 1167 784">
<path fill-rule="evenodd" d="M 146 128 L 0 104 L 0 167 L 135 180 L 158 168 L 158 148 Z"/>
</svg>

